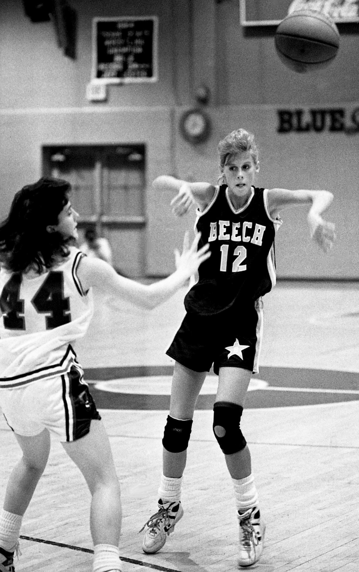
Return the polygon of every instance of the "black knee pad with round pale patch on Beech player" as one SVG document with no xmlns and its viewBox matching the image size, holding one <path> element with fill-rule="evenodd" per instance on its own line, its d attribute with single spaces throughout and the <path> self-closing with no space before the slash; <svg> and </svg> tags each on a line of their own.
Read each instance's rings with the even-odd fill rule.
<svg viewBox="0 0 359 572">
<path fill-rule="evenodd" d="M 247 441 L 240 430 L 243 407 L 217 401 L 213 405 L 213 433 L 225 455 L 242 451 Z"/>
</svg>

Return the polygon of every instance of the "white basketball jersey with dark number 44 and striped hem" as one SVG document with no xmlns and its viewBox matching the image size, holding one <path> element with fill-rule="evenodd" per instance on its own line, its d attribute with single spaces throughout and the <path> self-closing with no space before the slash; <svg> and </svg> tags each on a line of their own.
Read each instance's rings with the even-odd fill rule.
<svg viewBox="0 0 359 572">
<path fill-rule="evenodd" d="M 78 366 L 72 348 L 93 314 L 91 290 L 83 292 L 76 271 L 83 253 L 41 275 L 0 271 L 0 388 L 23 387 Z"/>
</svg>

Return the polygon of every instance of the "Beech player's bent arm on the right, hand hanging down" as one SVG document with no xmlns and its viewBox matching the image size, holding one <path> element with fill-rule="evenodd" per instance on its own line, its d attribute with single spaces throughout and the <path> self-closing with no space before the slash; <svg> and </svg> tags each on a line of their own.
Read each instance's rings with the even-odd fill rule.
<svg viewBox="0 0 359 572">
<path fill-rule="evenodd" d="M 322 219 L 321 214 L 332 201 L 333 194 L 328 190 L 268 190 L 268 208 L 273 218 L 289 206 L 311 205 L 307 217 L 310 236 L 325 252 L 333 246 L 335 225 Z"/>
</svg>

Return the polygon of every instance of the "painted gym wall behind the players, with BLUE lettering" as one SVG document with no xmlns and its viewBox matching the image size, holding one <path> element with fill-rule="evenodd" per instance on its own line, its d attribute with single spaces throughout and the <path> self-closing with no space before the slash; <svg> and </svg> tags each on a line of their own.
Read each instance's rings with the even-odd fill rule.
<svg viewBox="0 0 359 572">
<path fill-rule="evenodd" d="M 277 58 L 275 29 L 241 27 L 237 0 L 68 3 L 77 13 L 75 59 L 58 47 L 51 22 L 31 22 L 22 2 L 0 4 L 2 218 L 14 193 L 41 176 L 42 145 L 144 144 L 146 273 L 165 275 L 174 269 L 174 248 L 195 217 L 174 219 L 172 197 L 155 192 L 151 181 L 168 173 L 216 182 L 217 142 L 242 126 L 256 134 L 259 144 L 259 186 L 325 188 L 334 194 L 326 213 L 337 225 L 333 251 L 322 255 L 311 243 L 305 208 L 285 211 L 276 240 L 278 276 L 359 279 L 359 131 L 353 128 L 359 108 L 358 25 L 340 26 L 341 46 L 330 67 L 299 75 Z M 111 85 L 106 101 L 89 102 L 92 18 L 130 15 L 159 18 L 158 81 Z M 210 92 L 203 109 L 211 134 L 193 145 L 184 140 L 179 124 L 182 114 L 197 105 L 201 84 Z M 324 128 L 305 130 L 321 110 Z M 338 110 L 344 118 L 336 122 Z M 293 113 L 293 128 L 279 132 L 283 111 Z M 338 128 L 340 121 L 345 129 Z"/>
</svg>

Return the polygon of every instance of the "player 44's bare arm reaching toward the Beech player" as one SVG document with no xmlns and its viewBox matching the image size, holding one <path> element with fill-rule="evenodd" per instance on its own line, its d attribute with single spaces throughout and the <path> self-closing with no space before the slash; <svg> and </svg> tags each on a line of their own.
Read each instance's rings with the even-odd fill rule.
<svg viewBox="0 0 359 572">
<path fill-rule="evenodd" d="M 182 254 L 176 251 L 176 271 L 154 284 L 141 284 L 120 276 L 110 264 L 88 257 L 83 257 L 80 261 L 77 275 L 85 292 L 94 286 L 107 295 L 152 309 L 174 295 L 197 271 L 199 265 L 211 256 L 208 244 L 197 251 L 199 239 L 200 234 L 197 234 L 191 247 L 188 247 L 188 237 L 185 235 Z"/>
</svg>

